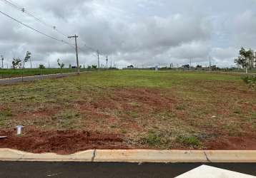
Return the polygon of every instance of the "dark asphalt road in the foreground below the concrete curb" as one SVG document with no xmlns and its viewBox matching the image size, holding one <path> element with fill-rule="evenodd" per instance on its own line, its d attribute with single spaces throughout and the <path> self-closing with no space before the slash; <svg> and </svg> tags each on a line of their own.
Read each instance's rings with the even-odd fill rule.
<svg viewBox="0 0 256 178">
<path fill-rule="evenodd" d="M 0 162 L 0 177 L 157 177 L 172 178 L 197 164 L 133 164 L 97 162 Z M 256 176 L 256 164 L 212 163 L 212 167 Z"/>
</svg>

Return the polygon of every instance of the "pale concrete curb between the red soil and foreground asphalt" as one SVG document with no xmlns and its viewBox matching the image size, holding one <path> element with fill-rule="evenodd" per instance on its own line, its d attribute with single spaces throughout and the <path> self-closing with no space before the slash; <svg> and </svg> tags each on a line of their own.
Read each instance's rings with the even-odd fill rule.
<svg viewBox="0 0 256 178">
<path fill-rule="evenodd" d="M 256 162 L 255 151 L 87 150 L 72 155 L 0 149 L 1 161 L 32 162 Z"/>
</svg>

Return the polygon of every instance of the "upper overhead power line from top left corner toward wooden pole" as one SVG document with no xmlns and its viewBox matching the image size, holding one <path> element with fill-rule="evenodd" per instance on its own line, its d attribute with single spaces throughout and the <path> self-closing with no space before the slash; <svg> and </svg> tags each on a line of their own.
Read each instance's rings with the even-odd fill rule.
<svg viewBox="0 0 256 178">
<path fill-rule="evenodd" d="M 36 21 L 38 21 L 39 23 L 42 23 L 44 26 L 47 26 L 51 29 L 53 29 L 54 31 L 56 31 L 57 33 L 61 34 L 62 36 L 67 37 L 67 34 L 59 31 L 56 26 L 52 26 L 51 24 L 46 23 L 45 21 L 42 21 L 41 19 L 37 18 L 36 16 L 34 16 L 33 14 L 29 13 L 29 11 L 26 11 L 26 9 L 24 7 L 21 7 L 19 5 L 14 4 L 11 1 L 7 1 L 7 0 L 1 0 L 4 1 L 6 4 L 8 4 L 9 6 L 12 6 L 14 9 L 17 9 L 19 11 L 22 11 L 24 14 L 30 16 L 31 18 L 35 19 Z"/>
</svg>

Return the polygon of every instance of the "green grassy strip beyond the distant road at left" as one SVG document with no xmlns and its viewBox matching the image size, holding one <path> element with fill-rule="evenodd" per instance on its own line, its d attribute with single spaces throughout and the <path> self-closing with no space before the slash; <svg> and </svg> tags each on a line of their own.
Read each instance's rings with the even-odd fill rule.
<svg viewBox="0 0 256 178">
<path fill-rule="evenodd" d="M 56 73 L 74 73 L 77 69 L 73 68 L 32 68 L 24 69 L 24 76 L 31 76 L 31 75 L 48 75 L 48 74 L 56 74 Z M 87 69 L 81 68 L 81 71 L 87 71 Z M 0 78 L 14 78 L 19 77 L 22 75 L 22 69 L 1 69 L 0 68 Z"/>
</svg>

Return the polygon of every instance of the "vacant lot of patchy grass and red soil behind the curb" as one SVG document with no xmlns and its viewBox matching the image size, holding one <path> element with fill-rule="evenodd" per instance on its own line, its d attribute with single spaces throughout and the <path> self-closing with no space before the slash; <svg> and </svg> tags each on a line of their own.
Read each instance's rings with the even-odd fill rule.
<svg viewBox="0 0 256 178">
<path fill-rule="evenodd" d="M 0 89 L 0 147 L 256 149 L 256 92 L 240 75 L 120 70 Z"/>
</svg>

